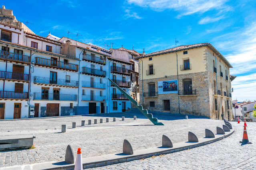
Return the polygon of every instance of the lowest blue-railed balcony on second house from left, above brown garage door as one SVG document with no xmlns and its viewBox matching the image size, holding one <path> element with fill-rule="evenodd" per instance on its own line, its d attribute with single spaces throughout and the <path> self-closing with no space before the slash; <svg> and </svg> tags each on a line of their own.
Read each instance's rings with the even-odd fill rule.
<svg viewBox="0 0 256 170">
<path fill-rule="evenodd" d="M 33 100 L 77 101 L 77 95 L 34 93 Z"/>
</svg>

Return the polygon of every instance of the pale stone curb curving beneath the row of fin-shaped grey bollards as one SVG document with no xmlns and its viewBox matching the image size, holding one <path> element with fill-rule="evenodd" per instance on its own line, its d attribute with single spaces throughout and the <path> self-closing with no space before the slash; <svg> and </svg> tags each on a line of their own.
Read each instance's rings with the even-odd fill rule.
<svg viewBox="0 0 256 170">
<path fill-rule="evenodd" d="M 129 162 L 132 160 L 139 160 L 143 158 L 149 158 L 151 156 L 159 156 L 161 154 L 170 154 L 173 152 L 179 152 L 182 150 L 187 150 L 191 148 L 196 148 L 199 146 L 204 146 L 206 144 L 210 144 L 216 142 L 218 140 L 222 140 L 227 138 L 231 134 L 234 133 L 234 129 L 231 129 L 230 132 L 226 132 L 223 134 L 215 134 L 215 138 L 198 138 L 199 142 L 179 142 L 174 143 L 173 148 L 165 148 L 165 147 L 155 147 L 155 148 L 147 148 L 141 150 L 134 150 L 133 155 L 127 155 L 123 153 L 118 154 L 107 154 L 101 156 L 93 156 L 83 158 L 83 168 L 95 168 L 99 166 L 106 166 L 111 164 L 118 164 L 122 162 Z M 46 168 L 47 167 L 47 168 Z M 26 169 L 37 169 L 37 170 L 60 170 L 60 169 L 73 169 L 75 164 L 68 164 L 65 161 L 62 162 L 44 162 L 38 164 L 29 164 L 22 166 L 9 166 L 3 169 L 15 169 L 15 170 L 26 170 Z"/>
</svg>

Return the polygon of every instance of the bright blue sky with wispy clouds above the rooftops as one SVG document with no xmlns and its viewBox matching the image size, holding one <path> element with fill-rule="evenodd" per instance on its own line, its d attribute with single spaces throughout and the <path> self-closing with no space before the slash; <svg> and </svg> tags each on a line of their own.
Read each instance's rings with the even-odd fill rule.
<svg viewBox="0 0 256 170">
<path fill-rule="evenodd" d="M 209 42 L 234 67 L 232 99 L 256 100 L 255 0 L 44 0 L 6 1 L 36 34 L 146 53 Z M 77 34 L 80 34 L 76 37 Z M 106 45 L 106 47 L 107 47 Z"/>
</svg>

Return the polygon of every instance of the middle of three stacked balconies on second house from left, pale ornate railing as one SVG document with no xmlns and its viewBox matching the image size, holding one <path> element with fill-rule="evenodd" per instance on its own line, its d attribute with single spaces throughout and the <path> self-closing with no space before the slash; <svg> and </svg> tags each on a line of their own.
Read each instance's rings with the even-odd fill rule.
<svg viewBox="0 0 256 170">
<path fill-rule="evenodd" d="M 39 77 L 34 76 L 34 84 L 38 85 L 52 85 L 52 86 L 60 86 L 60 87 L 78 87 L 78 81 L 73 80 L 66 80 L 66 79 L 56 79 L 52 80 L 52 78 L 49 77 Z"/>
</svg>

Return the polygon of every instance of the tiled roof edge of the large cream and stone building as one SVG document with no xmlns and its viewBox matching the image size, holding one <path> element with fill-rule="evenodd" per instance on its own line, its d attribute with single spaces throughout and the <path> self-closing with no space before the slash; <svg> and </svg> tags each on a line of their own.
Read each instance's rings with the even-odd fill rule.
<svg viewBox="0 0 256 170">
<path fill-rule="evenodd" d="M 169 49 L 165 49 L 165 50 L 161 50 L 161 51 L 156 51 L 156 52 L 149 53 L 149 54 L 137 57 L 137 58 L 150 57 L 153 55 L 160 55 L 160 54 L 171 53 L 171 52 L 175 52 L 175 51 L 181 51 L 181 50 L 185 50 L 185 49 L 191 49 L 191 48 L 203 47 L 203 46 L 209 47 L 212 51 L 214 51 L 214 53 L 216 53 L 226 63 L 226 65 L 228 65 L 228 67 L 233 68 L 232 65 L 228 62 L 228 60 L 211 43 L 196 43 L 196 44 L 191 44 L 191 45 L 180 45 L 178 47 L 173 47 L 173 48 L 169 48 Z"/>
</svg>

